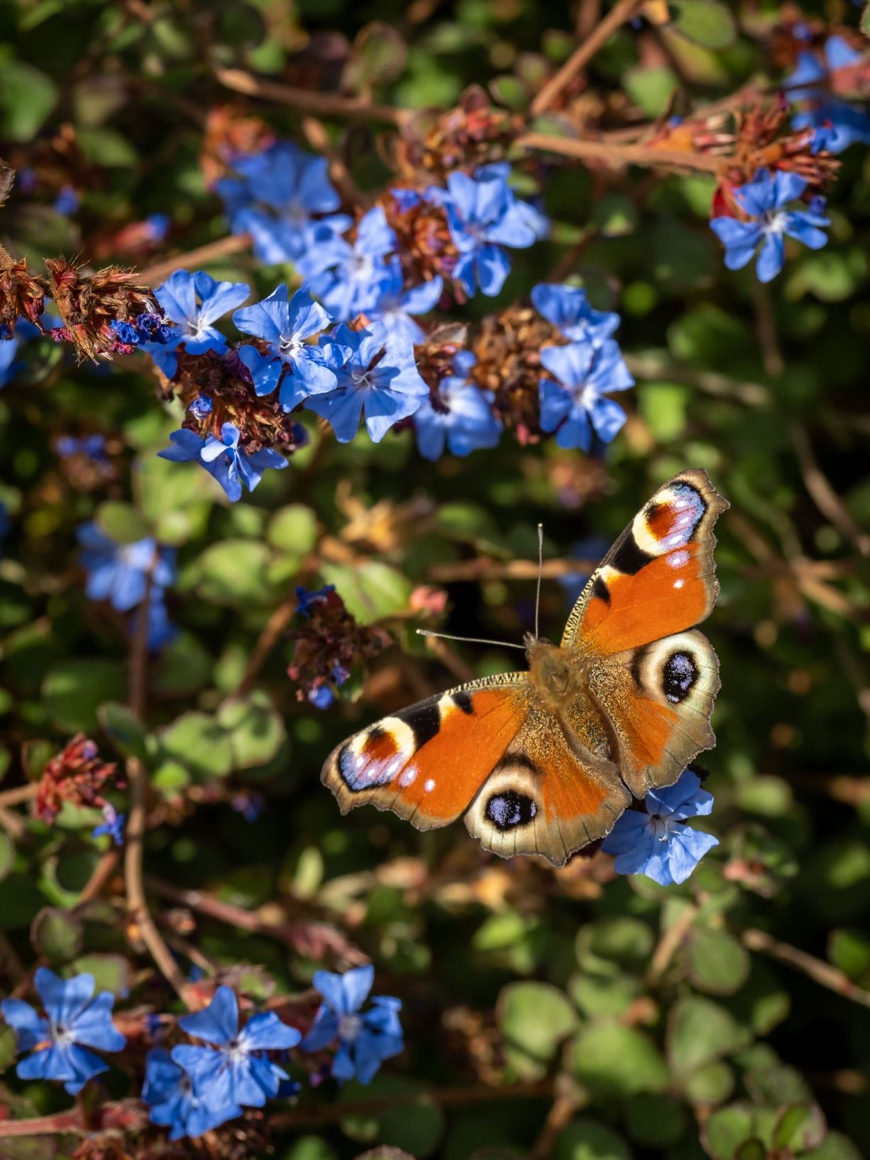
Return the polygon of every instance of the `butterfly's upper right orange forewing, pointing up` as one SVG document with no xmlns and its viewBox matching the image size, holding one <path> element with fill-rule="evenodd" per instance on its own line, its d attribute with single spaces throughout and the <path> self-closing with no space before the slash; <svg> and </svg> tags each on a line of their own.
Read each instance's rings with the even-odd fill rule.
<svg viewBox="0 0 870 1160">
<path fill-rule="evenodd" d="M 593 573 L 563 647 L 622 653 L 699 624 L 719 592 L 712 528 L 727 507 L 698 469 L 660 487 Z"/>
</svg>

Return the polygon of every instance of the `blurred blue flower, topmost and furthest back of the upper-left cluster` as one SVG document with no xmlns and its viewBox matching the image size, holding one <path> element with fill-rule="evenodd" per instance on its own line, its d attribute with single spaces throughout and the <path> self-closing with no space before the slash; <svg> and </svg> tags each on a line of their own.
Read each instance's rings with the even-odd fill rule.
<svg viewBox="0 0 870 1160">
<path fill-rule="evenodd" d="M 296 262 L 312 240 L 312 232 L 340 233 L 350 218 L 334 215 L 316 220 L 314 213 L 332 213 L 341 198 L 327 176 L 325 157 L 304 153 L 290 142 L 278 142 L 262 153 L 239 157 L 233 168 L 240 179 L 217 184 L 233 233 L 249 233 L 261 262 Z"/>
</svg>

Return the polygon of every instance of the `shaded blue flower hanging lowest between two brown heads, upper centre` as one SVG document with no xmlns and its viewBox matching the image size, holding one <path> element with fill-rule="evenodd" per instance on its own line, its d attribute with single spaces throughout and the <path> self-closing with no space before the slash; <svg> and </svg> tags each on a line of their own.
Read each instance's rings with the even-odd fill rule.
<svg viewBox="0 0 870 1160">
<path fill-rule="evenodd" d="M 438 459 L 444 444 L 451 455 L 464 456 L 478 448 L 496 447 L 502 426 L 492 413 L 493 394 L 469 382 L 474 356 L 462 351 L 454 360 L 459 372 L 438 383 L 437 399 L 426 398 L 414 412 L 414 430 L 420 455 Z"/>
</svg>

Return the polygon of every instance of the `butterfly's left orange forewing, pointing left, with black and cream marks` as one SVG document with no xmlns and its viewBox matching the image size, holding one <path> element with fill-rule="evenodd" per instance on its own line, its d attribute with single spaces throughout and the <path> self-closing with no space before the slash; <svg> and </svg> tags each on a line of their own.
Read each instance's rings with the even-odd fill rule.
<svg viewBox="0 0 870 1160">
<path fill-rule="evenodd" d="M 418 829 L 469 807 L 529 710 L 528 673 L 484 677 L 421 701 L 333 749 L 320 780 L 342 813 L 392 810 Z"/>
</svg>

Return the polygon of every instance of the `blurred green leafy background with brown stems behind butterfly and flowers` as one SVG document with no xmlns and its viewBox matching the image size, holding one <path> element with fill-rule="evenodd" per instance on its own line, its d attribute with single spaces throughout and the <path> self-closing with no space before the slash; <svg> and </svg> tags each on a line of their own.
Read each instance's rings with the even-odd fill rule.
<svg viewBox="0 0 870 1160">
<path fill-rule="evenodd" d="M 857 22 L 842 3 L 811 14 Z M 587 70 L 588 92 L 622 94 L 654 117 L 674 93 L 711 99 L 769 72 L 759 28 L 775 6 L 686 0 L 670 15 L 659 30 L 614 36 Z M 50 197 L 14 200 L 3 241 L 38 268 L 57 251 L 89 258 L 107 232 L 153 212 L 172 219 L 154 261 L 223 238 L 198 161 L 203 113 L 238 99 L 216 67 L 317 88 L 353 45 L 355 87 L 377 100 L 450 106 L 481 82 L 522 109 L 523 78 L 566 57 L 573 20 L 568 6 L 529 0 L 7 3 L 5 155 L 21 165 L 71 124 L 87 172 L 73 218 Z M 377 35 L 360 39 L 371 21 Z M 304 143 L 298 110 L 253 107 Z M 327 124 L 363 188 L 387 180 L 377 126 Z M 553 162 L 529 193 L 543 198 L 552 240 L 516 254 L 500 299 L 462 317 L 507 305 L 557 268 L 617 309 L 638 385 L 604 458 L 506 437 L 429 464 L 408 433 L 339 447 L 307 415 L 311 444 L 290 470 L 230 506 L 203 472 L 155 457 L 176 423 L 144 358 L 94 370 L 49 343 L 28 348 L 0 397 L 12 522 L 0 791 L 20 784 L 22 747 L 32 774 L 75 731 L 107 753 L 142 754 L 146 885 L 186 962 L 206 976 L 241 966 L 239 988 L 263 999 L 299 992 L 318 965 L 347 965 L 358 949 L 376 964 L 376 989 L 401 996 L 405 1054 L 368 1089 L 320 1089 L 289 1111 L 274 1137 L 282 1160 L 379 1143 L 448 1160 L 860 1157 L 870 1151 L 867 158 L 860 147 L 843 158 L 828 247 L 796 254 L 767 292 L 751 268 L 723 268 L 706 220 L 711 179 Z M 206 268 L 258 297 L 292 277 L 241 248 Z M 53 443 L 94 428 L 117 441 L 121 470 L 88 492 Z M 413 633 L 412 593 L 445 589 L 447 631 L 519 640 L 534 581 L 512 561 L 534 558 L 537 522 L 548 558 L 570 558 L 588 537 L 610 541 L 684 466 L 705 467 L 732 503 L 708 625 L 722 660 L 719 740 L 703 759 L 722 846 L 693 878 L 668 890 L 614 878 L 603 855 L 553 871 L 487 856 L 461 825 L 419 834 L 369 810 L 342 819 L 318 777 L 333 745 L 456 677 L 513 664 L 483 646 L 433 655 Z M 90 517 L 129 538 L 151 529 L 179 550 L 168 604 L 182 631 L 150 669 L 142 730 L 119 708 L 123 628 L 88 603 L 77 566 L 75 528 Z M 325 713 L 297 701 L 284 635 L 293 585 L 321 582 L 397 641 L 360 699 Z M 558 637 L 567 607 L 564 587 L 545 581 L 544 635 Z M 274 647 L 246 680 L 269 623 Z M 264 803 L 255 820 L 232 806 L 245 796 Z M 41 956 L 130 988 L 122 1007 L 169 1005 L 122 921 L 119 879 L 77 909 L 102 856 L 88 836 L 99 815 L 67 811 L 55 829 L 8 811 L 0 820 L 2 986 Z M 324 923 L 338 947 L 318 942 Z M 0 1066 L 12 1054 L 0 1030 Z M 2 1082 L 16 1116 L 66 1105 L 12 1067 Z M 109 1082 L 126 1092 L 123 1074 Z M 3 1146 L 16 1158 L 71 1154 L 63 1138 Z"/>
</svg>

